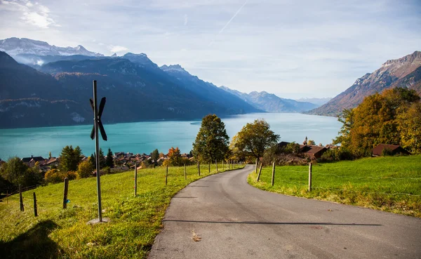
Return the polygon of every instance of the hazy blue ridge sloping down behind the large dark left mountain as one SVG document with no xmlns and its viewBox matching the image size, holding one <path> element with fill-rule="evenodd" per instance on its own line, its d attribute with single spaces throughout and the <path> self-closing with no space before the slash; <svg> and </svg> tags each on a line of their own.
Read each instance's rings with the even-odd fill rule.
<svg viewBox="0 0 421 259">
<path fill-rule="evenodd" d="M 231 113 L 262 112 L 260 109 L 256 109 L 246 101 L 241 100 L 236 95 L 189 74 L 180 65 L 163 65 L 161 69 L 178 79 L 187 90 L 196 93 L 205 100 L 213 102 L 215 105 L 225 107 Z"/>
</svg>

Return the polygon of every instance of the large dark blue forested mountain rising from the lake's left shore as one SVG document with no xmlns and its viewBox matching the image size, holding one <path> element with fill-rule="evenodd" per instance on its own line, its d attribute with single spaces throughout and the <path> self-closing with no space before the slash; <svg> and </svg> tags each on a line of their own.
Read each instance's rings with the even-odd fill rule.
<svg viewBox="0 0 421 259">
<path fill-rule="evenodd" d="M 227 105 L 199 95 L 191 90 L 198 85 L 186 86 L 146 58 L 60 60 L 38 71 L 0 52 L 0 128 L 90 123 L 93 80 L 98 81 L 100 97 L 107 97 L 105 123 L 258 111 L 235 96 Z M 222 91 L 220 98 L 223 95 L 230 96 Z"/>
</svg>

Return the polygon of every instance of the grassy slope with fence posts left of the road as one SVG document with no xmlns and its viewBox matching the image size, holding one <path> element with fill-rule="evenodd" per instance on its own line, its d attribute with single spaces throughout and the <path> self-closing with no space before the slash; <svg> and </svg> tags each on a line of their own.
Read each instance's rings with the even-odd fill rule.
<svg viewBox="0 0 421 259">
<path fill-rule="evenodd" d="M 218 171 L 222 171 L 219 164 Z M 189 182 L 217 173 L 215 165 L 138 171 L 138 196 L 134 197 L 134 172 L 101 176 L 102 217 L 110 223 L 87 225 L 98 218 L 96 178 L 69 181 L 67 208 L 62 208 L 63 184 L 23 193 L 25 212 L 18 195 L 0 203 L 1 258 L 146 258 L 171 197 Z M 33 192 L 38 200 L 34 217 Z M 4 255 L 6 255 L 4 257 Z"/>
</svg>

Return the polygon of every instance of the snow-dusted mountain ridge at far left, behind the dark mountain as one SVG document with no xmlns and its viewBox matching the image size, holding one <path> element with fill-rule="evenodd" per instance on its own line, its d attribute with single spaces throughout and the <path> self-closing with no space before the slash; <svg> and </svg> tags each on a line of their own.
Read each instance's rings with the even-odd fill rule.
<svg viewBox="0 0 421 259">
<path fill-rule="evenodd" d="M 22 53 L 35 55 L 87 55 L 87 56 L 103 56 L 86 50 L 83 46 L 76 47 L 58 47 L 51 46 L 45 41 L 35 41 L 26 38 L 8 38 L 0 40 L 0 51 L 4 51 L 9 55 L 18 55 Z"/>
</svg>

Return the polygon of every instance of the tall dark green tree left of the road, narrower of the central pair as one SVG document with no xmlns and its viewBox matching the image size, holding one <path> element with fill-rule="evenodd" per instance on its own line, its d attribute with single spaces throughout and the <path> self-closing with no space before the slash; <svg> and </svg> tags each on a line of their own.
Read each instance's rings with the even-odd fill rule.
<svg viewBox="0 0 421 259">
<path fill-rule="evenodd" d="M 225 124 L 215 114 L 203 117 L 199 133 L 193 143 L 193 155 L 201 161 L 224 159 L 229 137 Z"/>
</svg>

